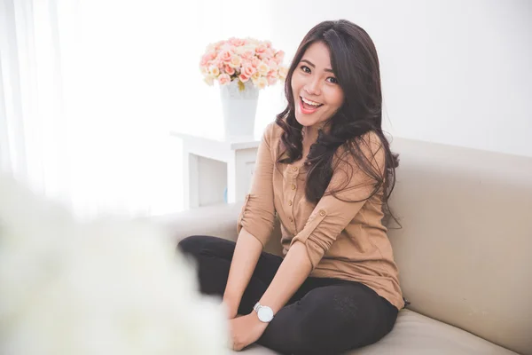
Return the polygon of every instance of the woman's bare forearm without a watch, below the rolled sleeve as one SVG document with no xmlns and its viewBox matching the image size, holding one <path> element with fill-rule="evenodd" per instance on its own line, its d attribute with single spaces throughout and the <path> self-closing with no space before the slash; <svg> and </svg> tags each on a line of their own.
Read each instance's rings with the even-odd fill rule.
<svg viewBox="0 0 532 355">
<path fill-rule="evenodd" d="M 223 294 L 223 303 L 228 307 L 231 319 L 237 315 L 240 300 L 251 279 L 261 252 L 262 243 L 243 228 L 239 233 L 239 239 L 231 261 L 227 286 Z"/>
</svg>

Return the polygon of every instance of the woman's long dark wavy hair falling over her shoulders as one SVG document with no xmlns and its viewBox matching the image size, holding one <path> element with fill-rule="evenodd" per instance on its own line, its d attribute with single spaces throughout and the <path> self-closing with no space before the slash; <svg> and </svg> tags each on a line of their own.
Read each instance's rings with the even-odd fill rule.
<svg viewBox="0 0 532 355">
<path fill-rule="evenodd" d="M 325 132 L 320 129 L 316 143 L 310 146 L 305 161 L 305 166 L 308 168 L 306 198 L 317 203 L 325 192 L 338 193 L 339 190 L 334 191 L 327 187 L 334 170 L 333 156 L 340 146 L 345 146 L 346 151 L 353 155 L 357 168 L 363 170 L 375 182 L 374 191 L 367 199 L 378 193 L 380 188 L 384 188 L 383 210 L 389 213 L 387 199 L 395 185 L 398 155 L 390 151 L 389 143 L 381 128 L 382 93 L 379 58 L 370 36 L 363 28 L 348 20 L 328 20 L 317 24 L 303 38 L 293 57 L 285 83 L 288 105 L 276 119 L 278 126 L 284 130 L 281 141 L 285 147 L 278 162 L 291 163 L 302 158 L 302 126 L 295 119 L 291 82 L 293 71 L 298 67 L 301 57 L 309 45 L 316 42 L 325 43 L 329 48 L 332 71 L 344 93 L 344 102 L 326 122 L 329 130 Z M 364 142 L 360 138 L 370 131 L 379 137 L 385 150 L 384 175 L 381 170 L 373 166 L 370 159 L 372 157 L 366 157 L 362 153 Z"/>
</svg>

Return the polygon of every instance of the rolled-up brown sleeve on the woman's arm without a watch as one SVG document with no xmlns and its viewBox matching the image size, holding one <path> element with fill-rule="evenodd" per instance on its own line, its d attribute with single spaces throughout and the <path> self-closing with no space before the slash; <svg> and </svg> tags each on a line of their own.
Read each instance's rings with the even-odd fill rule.
<svg viewBox="0 0 532 355">
<path fill-rule="evenodd" d="M 274 162 L 271 153 L 271 139 L 273 124 L 264 130 L 257 152 L 249 193 L 239 214 L 237 231 L 242 228 L 251 233 L 262 243 L 262 248 L 270 239 L 275 222 L 275 208 L 273 203 L 273 169 Z"/>
</svg>

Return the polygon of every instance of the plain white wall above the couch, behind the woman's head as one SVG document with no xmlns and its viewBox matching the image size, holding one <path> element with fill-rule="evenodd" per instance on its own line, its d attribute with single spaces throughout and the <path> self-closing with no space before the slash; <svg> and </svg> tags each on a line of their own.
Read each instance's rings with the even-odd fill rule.
<svg viewBox="0 0 532 355">
<path fill-rule="evenodd" d="M 321 20 L 372 36 L 393 136 L 532 156 L 531 1 L 275 3 L 272 42 L 287 59 Z"/>
</svg>

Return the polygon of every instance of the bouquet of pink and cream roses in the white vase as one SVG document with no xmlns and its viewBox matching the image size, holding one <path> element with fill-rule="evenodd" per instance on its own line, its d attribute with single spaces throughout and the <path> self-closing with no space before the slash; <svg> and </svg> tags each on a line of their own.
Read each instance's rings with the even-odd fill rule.
<svg viewBox="0 0 532 355">
<path fill-rule="evenodd" d="M 200 71 L 207 84 L 239 81 L 239 89 L 251 81 L 258 89 L 286 79 L 288 68 L 282 65 L 284 51 L 276 51 L 270 41 L 231 37 L 211 43 L 201 57 Z"/>
</svg>

